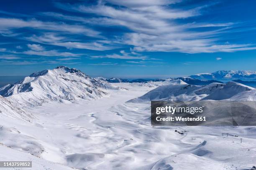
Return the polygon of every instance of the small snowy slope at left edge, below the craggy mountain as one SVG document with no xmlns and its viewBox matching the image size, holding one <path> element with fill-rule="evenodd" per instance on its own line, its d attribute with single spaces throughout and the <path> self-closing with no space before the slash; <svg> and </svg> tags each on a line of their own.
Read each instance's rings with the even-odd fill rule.
<svg viewBox="0 0 256 170">
<path fill-rule="evenodd" d="M 0 117 L 11 117 L 19 120 L 30 121 L 35 118 L 33 115 L 28 114 L 26 111 L 15 106 L 12 102 L 5 97 L 0 96 Z"/>
</svg>

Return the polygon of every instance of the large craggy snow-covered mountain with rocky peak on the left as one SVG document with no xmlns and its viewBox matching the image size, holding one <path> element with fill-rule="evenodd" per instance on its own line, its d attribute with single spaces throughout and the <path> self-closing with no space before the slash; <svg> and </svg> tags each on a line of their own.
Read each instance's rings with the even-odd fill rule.
<svg viewBox="0 0 256 170">
<path fill-rule="evenodd" d="M 49 101 L 93 99 L 108 95 L 107 89 L 118 89 L 108 82 L 89 77 L 80 70 L 64 66 L 35 72 L 23 80 L 0 88 L 0 95 L 35 106 Z"/>
</svg>

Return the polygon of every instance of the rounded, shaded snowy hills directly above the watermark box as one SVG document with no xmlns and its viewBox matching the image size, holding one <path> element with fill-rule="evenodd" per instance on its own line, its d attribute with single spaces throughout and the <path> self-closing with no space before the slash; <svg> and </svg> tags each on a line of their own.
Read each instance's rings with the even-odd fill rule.
<svg viewBox="0 0 256 170">
<path fill-rule="evenodd" d="M 129 102 L 149 102 L 151 100 L 225 100 L 238 95 L 241 92 L 254 91 L 249 87 L 238 82 L 228 82 L 226 84 L 213 82 L 210 85 L 189 85 L 177 79 L 168 85 L 162 85 L 149 91 L 141 97 L 130 100 Z"/>
</svg>

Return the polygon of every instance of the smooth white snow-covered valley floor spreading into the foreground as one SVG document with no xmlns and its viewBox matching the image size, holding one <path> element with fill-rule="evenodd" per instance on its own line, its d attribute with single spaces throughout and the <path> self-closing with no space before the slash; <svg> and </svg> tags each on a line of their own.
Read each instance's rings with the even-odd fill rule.
<svg viewBox="0 0 256 170">
<path fill-rule="evenodd" d="M 0 160 L 32 160 L 33 170 L 249 170 L 256 164 L 256 127 L 152 127 L 150 103 L 126 101 L 154 87 L 115 85 L 128 90 L 35 107 L 28 110 L 36 116 L 30 124 L 1 121 Z"/>
</svg>

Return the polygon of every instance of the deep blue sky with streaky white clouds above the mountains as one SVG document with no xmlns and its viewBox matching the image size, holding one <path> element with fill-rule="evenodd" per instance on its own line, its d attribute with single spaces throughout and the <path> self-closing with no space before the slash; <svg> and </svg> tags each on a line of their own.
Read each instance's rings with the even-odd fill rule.
<svg viewBox="0 0 256 170">
<path fill-rule="evenodd" d="M 8 0 L 0 75 L 58 65 L 93 77 L 255 70 L 253 0 Z"/>
</svg>

